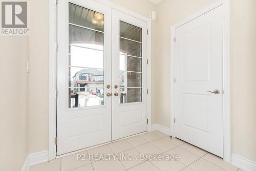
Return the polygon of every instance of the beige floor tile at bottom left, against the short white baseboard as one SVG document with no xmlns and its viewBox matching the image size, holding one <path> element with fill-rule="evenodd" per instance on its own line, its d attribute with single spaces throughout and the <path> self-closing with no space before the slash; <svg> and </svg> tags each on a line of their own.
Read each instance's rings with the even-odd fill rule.
<svg viewBox="0 0 256 171">
<path fill-rule="evenodd" d="M 54 159 L 49 162 L 37 164 L 34 166 L 31 166 L 29 171 L 60 171 L 60 159 Z"/>
</svg>

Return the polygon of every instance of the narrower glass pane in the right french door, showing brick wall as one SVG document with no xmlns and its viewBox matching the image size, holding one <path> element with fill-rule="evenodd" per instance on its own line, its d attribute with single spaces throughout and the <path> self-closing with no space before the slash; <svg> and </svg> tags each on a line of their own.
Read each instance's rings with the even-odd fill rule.
<svg viewBox="0 0 256 171">
<path fill-rule="evenodd" d="M 120 21 L 120 103 L 142 100 L 142 29 Z"/>
</svg>

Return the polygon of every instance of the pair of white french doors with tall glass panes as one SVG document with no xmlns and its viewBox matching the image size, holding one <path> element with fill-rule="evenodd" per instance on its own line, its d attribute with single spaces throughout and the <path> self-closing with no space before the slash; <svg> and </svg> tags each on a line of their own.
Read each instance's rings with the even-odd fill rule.
<svg viewBox="0 0 256 171">
<path fill-rule="evenodd" d="M 92 0 L 57 13 L 57 155 L 146 131 L 146 23 Z"/>
</svg>

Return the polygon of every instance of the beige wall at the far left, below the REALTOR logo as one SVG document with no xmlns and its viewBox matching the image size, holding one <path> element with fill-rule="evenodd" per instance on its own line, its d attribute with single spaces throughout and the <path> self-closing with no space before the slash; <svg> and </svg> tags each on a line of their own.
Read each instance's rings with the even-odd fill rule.
<svg viewBox="0 0 256 171">
<path fill-rule="evenodd" d="M 20 170 L 28 155 L 27 36 L 1 36 L 0 170 Z"/>
</svg>

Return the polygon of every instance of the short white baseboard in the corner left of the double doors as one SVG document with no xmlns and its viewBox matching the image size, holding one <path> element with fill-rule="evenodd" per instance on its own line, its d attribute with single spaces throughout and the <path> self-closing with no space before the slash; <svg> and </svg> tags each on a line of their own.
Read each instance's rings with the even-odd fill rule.
<svg viewBox="0 0 256 171">
<path fill-rule="evenodd" d="M 30 166 L 44 163 L 48 161 L 48 151 L 42 151 L 38 153 L 29 154 L 23 167 L 22 171 L 28 171 Z"/>
</svg>

